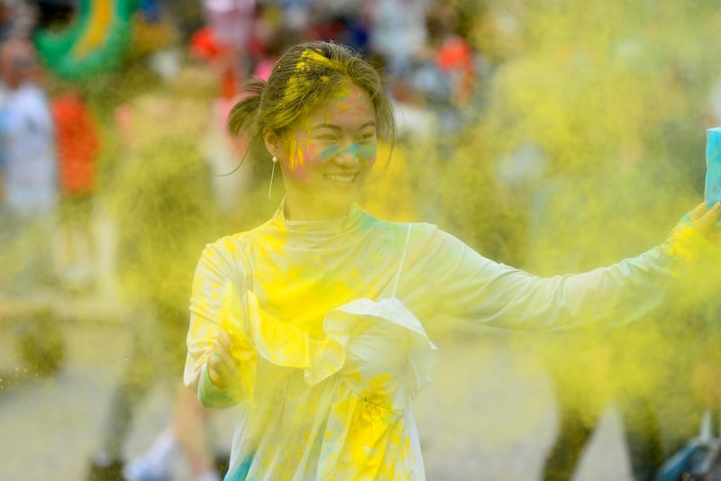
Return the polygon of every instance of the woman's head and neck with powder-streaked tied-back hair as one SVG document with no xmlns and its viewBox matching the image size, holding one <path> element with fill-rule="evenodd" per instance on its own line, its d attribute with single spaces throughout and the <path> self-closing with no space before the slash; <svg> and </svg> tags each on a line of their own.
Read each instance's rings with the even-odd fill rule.
<svg viewBox="0 0 721 481">
<path fill-rule="evenodd" d="M 378 138 L 395 134 L 378 72 L 345 47 L 298 45 L 254 80 L 229 118 L 234 135 L 262 142 L 278 159 L 293 220 L 340 217 L 358 200 Z"/>
</svg>

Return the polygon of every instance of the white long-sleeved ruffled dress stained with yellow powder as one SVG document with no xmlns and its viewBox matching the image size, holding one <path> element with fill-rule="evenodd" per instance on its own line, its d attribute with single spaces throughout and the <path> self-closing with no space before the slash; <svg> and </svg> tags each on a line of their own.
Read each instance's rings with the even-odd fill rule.
<svg viewBox="0 0 721 481">
<path fill-rule="evenodd" d="M 534 277 L 426 223 L 358 206 L 331 221 L 259 228 L 208 245 L 191 298 L 185 381 L 233 338 L 242 382 L 200 382 L 236 405 L 226 480 L 424 479 L 410 401 L 431 380 L 424 325 L 452 316 L 525 330 L 624 322 L 648 313 L 688 265 L 670 244 L 609 268 Z M 202 386 L 211 386 L 202 388 Z"/>
</svg>

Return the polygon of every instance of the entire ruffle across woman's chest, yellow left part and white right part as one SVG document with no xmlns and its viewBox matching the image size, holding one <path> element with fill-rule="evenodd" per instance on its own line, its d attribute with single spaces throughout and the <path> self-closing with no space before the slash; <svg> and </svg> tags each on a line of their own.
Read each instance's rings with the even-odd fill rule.
<svg viewBox="0 0 721 481">
<path fill-rule="evenodd" d="M 240 388 L 251 405 L 260 358 L 303 369 L 309 386 L 338 373 L 360 398 L 392 409 L 406 409 L 431 382 L 434 343 L 396 298 L 359 298 L 331 310 L 324 318 L 326 337 L 316 340 L 265 312 L 252 291 L 237 294 L 228 281 L 219 318 L 233 341 L 233 357 L 241 361 Z"/>
</svg>

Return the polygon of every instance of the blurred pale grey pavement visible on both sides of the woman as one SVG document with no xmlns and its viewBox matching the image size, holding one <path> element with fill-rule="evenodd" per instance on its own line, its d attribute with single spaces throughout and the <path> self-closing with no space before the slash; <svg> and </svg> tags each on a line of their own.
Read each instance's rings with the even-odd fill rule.
<svg viewBox="0 0 721 481">
<path fill-rule="evenodd" d="M 10 377 L 3 375 L 0 479 L 4 481 L 82 480 L 87 458 L 96 449 L 98 424 L 123 368 L 128 333 L 117 320 L 63 322 L 68 356 L 59 373 L 24 382 L 18 382 L 22 368 Z M 415 402 L 427 478 L 537 479 L 555 429 L 546 378 L 497 335 L 474 330 L 437 340 L 434 384 Z M 0 370 L 5 373 L 13 363 L 22 364 L 11 344 L 7 337 L 0 341 Z M 159 388 L 143 404 L 126 447 L 129 457 L 147 449 L 169 420 L 169 393 Z M 214 426 L 216 444 L 226 445 L 233 413 L 220 413 Z M 178 458 L 176 471 L 179 480 L 189 479 L 182 459 Z M 628 473 L 616 413 L 608 410 L 574 479 L 625 481 L 630 480 Z"/>
</svg>

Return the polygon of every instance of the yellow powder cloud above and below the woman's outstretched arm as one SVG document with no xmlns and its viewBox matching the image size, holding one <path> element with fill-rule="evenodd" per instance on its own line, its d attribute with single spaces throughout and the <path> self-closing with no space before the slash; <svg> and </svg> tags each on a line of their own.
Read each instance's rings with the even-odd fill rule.
<svg viewBox="0 0 721 481">
<path fill-rule="evenodd" d="M 703 198 L 705 129 L 721 122 L 709 104 L 721 72 L 707 64 L 718 46 L 698 35 L 718 21 L 716 6 L 530 2 L 489 10 L 501 22 L 487 16 L 475 32 L 490 24 L 515 34 L 476 37 L 496 41 L 504 59 L 481 77 L 483 110 L 454 155 L 432 163 L 443 178 L 426 185 L 436 187 L 442 222 L 491 259 L 543 276 L 606 266 L 664 239 Z M 495 345 L 516 353 L 520 372 L 548 374 L 556 421 L 565 422 L 561 452 L 593 449 L 593 429 L 603 431 L 613 408 L 641 444 L 658 422 L 657 455 L 668 456 L 698 432 L 703 406 L 718 404 L 721 379 L 710 374 L 718 372 L 718 315 L 717 301 L 704 299 L 698 309 L 671 305 L 630 326 L 618 319 L 550 336 L 497 334 Z M 525 413 L 543 409 L 541 392 Z M 497 449 L 540 435 L 517 420 L 494 426 Z M 549 450 L 558 429 L 548 433 Z"/>
</svg>

